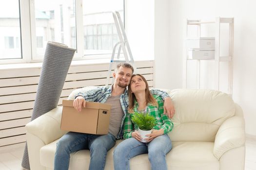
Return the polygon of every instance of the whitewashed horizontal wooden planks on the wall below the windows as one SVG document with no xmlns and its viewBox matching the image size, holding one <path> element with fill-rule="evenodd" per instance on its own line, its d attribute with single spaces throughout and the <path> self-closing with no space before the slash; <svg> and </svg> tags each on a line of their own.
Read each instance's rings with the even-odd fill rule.
<svg viewBox="0 0 256 170">
<path fill-rule="evenodd" d="M 153 61 L 136 62 L 137 73 L 145 76 L 150 87 L 154 85 L 153 65 Z M 76 88 L 105 85 L 108 68 L 108 63 L 71 66 L 58 105 Z M 112 73 L 114 69 L 115 65 Z M 26 140 L 25 125 L 31 120 L 40 71 L 40 67 L 0 68 L 0 148 Z"/>
</svg>

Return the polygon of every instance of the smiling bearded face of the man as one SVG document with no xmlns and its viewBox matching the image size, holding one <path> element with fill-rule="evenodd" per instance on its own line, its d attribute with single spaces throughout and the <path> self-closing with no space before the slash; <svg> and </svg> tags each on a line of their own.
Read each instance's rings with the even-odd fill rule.
<svg viewBox="0 0 256 170">
<path fill-rule="evenodd" d="M 115 84 L 117 84 L 119 87 L 125 88 L 127 85 L 129 85 L 132 74 L 133 71 L 131 68 L 124 68 L 122 66 L 119 67 L 119 69 L 113 73 Z"/>
</svg>

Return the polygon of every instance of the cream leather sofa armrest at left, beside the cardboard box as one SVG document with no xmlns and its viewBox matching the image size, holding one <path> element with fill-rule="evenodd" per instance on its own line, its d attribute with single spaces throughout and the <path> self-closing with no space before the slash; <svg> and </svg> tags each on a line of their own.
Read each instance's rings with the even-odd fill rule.
<svg viewBox="0 0 256 170">
<path fill-rule="evenodd" d="M 61 115 L 62 107 L 56 107 L 26 124 L 26 130 L 47 145 L 67 133 L 60 130 Z"/>
</svg>

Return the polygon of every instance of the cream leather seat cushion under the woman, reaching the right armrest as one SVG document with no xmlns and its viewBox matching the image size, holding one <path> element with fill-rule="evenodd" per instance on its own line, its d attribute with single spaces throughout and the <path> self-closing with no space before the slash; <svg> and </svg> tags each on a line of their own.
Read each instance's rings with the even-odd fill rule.
<svg viewBox="0 0 256 170">
<path fill-rule="evenodd" d="M 121 140 L 117 141 L 117 144 Z M 113 151 L 108 152 L 105 170 L 114 170 Z M 214 142 L 172 142 L 173 148 L 166 155 L 168 170 L 218 170 L 219 162 L 213 154 Z M 130 160 L 131 170 L 150 170 L 148 154 Z"/>
</svg>

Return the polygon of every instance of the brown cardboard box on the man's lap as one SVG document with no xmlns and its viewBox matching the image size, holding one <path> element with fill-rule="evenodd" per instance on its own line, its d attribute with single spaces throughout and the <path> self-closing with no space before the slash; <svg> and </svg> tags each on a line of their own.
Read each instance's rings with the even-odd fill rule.
<svg viewBox="0 0 256 170">
<path fill-rule="evenodd" d="M 62 105 L 61 130 L 96 135 L 108 134 L 110 104 L 86 102 L 81 112 L 73 107 L 72 100 L 63 100 Z"/>
</svg>

